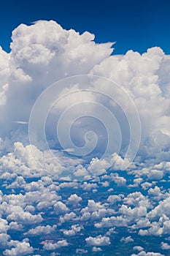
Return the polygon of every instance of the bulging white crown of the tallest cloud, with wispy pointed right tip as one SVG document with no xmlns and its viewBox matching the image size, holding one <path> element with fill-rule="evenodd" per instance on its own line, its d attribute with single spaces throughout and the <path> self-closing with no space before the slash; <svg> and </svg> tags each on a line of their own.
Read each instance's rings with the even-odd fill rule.
<svg viewBox="0 0 170 256">
<path fill-rule="evenodd" d="M 53 74 L 60 78 L 65 72 L 72 75 L 76 70 L 80 73 L 82 68 L 87 72 L 112 53 L 111 43 L 97 45 L 93 39 L 94 35 L 87 31 L 82 35 L 73 29 L 66 31 L 53 20 L 40 20 L 32 26 L 21 24 L 12 32 L 12 60 L 18 66 L 22 64 L 24 72 L 29 70 L 29 75 L 36 75 L 34 67 L 37 72 L 48 64 L 49 77 Z M 28 64 L 25 64 L 26 61 Z M 54 74 L 55 71 L 57 74 Z"/>
</svg>

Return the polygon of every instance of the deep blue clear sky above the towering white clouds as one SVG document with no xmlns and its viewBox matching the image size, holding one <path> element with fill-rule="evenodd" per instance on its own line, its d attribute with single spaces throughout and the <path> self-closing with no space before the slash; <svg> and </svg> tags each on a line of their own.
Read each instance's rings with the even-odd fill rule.
<svg viewBox="0 0 170 256">
<path fill-rule="evenodd" d="M 9 0 L 1 1 L 0 45 L 9 51 L 12 30 L 20 23 L 56 20 L 65 29 L 90 31 L 96 42 L 117 42 L 115 53 L 140 53 L 160 46 L 170 53 L 169 0 Z"/>
</svg>

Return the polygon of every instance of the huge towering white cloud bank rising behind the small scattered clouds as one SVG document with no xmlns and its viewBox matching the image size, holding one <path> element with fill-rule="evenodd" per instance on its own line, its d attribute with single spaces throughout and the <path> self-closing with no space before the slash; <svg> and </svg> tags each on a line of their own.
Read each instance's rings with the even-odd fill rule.
<svg viewBox="0 0 170 256">
<path fill-rule="evenodd" d="M 74 145 L 77 147 L 85 145 L 87 132 L 95 139 L 93 133 L 89 134 L 89 131 L 94 130 L 98 144 L 91 144 L 97 146 L 96 151 L 92 151 L 93 157 L 100 157 L 104 153 L 103 148 L 107 148 L 108 129 L 101 120 L 98 122 L 97 115 L 93 113 L 98 113 L 99 106 L 102 106 L 99 111 L 101 116 L 106 120 L 106 115 L 102 111 L 107 108 L 116 120 L 115 123 L 110 122 L 110 125 L 113 124 L 110 129 L 113 130 L 114 142 L 112 152 L 109 151 L 110 155 L 116 152 L 126 157 L 129 141 L 134 136 L 131 140 L 134 148 L 136 143 L 140 142 L 139 151 L 135 152 L 136 161 L 155 159 L 156 163 L 160 159 L 169 159 L 170 57 L 158 47 L 148 49 L 147 53 L 142 55 L 129 50 L 125 55 L 111 56 L 112 50 L 112 43 L 96 44 L 93 34 L 87 31 L 79 34 L 73 29 L 66 31 L 52 20 L 40 20 L 31 26 L 23 24 L 18 26 L 12 32 L 11 52 L 5 53 L 0 49 L 1 154 L 11 151 L 13 143 L 17 141 L 25 146 L 28 145 L 27 124 L 31 110 L 39 97 L 45 95 L 44 107 L 49 110 L 45 120 L 47 122 L 44 124 L 45 135 L 48 146 L 53 150 L 65 151 L 71 157 L 74 154 L 75 147 L 72 148 L 71 144 L 65 143 L 65 148 L 62 148 L 63 145 L 60 143 L 60 138 L 64 138 L 69 118 L 72 120 L 74 117 L 74 122 L 70 126 L 70 136 Z M 78 81 L 68 80 L 69 77 L 80 75 L 82 78 Z M 94 79 L 91 86 L 85 80 L 85 75 L 106 80 L 104 82 L 102 79 Z M 64 95 L 59 102 L 52 100 L 52 94 L 43 94 L 51 84 L 63 79 L 69 83 L 63 86 L 63 90 L 58 91 L 58 97 Z M 116 86 L 108 86 L 107 80 L 114 81 L 122 91 L 125 91 L 125 94 L 120 93 Z M 71 95 L 73 89 L 77 92 Z M 80 91 L 81 89 L 90 89 L 90 91 Z M 95 94 L 93 91 L 102 91 L 102 94 Z M 115 101 L 109 99 L 108 95 L 111 95 Z M 134 109 L 128 99 L 132 100 L 139 113 L 142 127 L 140 141 L 135 140 L 138 136 L 137 132 L 140 132 L 139 120 L 134 118 Z M 43 112 L 43 105 L 40 107 L 42 108 L 39 108 L 39 113 L 36 115 L 37 130 Z M 63 121 L 63 134 L 59 127 L 61 135 L 58 138 L 56 123 L 57 120 L 61 120 L 61 114 L 66 113 L 65 110 L 69 110 L 69 114 Z M 129 123 L 129 118 L 133 126 L 131 122 Z M 131 129 L 132 127 L 134 129 Z M 88 142 L 90 140 L 91 137 L 88 138 Z M 41 138 L 39 142 L 41 143 Z M 120 149 L 117 150 L 119 147 Z M 41 150 L 41 147 L 39 149 Z M 130 149 L 132 154 L 134 149 L 133 147 Z"/>
</svg>

